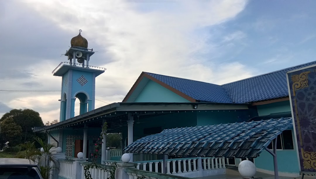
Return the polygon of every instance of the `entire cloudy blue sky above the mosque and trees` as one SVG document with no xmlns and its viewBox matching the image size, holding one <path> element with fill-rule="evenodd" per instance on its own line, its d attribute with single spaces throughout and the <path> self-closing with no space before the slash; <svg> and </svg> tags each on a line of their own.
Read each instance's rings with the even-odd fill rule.
<svg viewBox="0 0 316 179">
<path fill-rule="evenodd" d="M 142 71 L 224 84 L 316 60 L 316 1 L 0 0 L 0 90 L 60 90 L 52 75 L 82 29 L 95 53 L 95 108 Z M 60 92 L 0 91 L 0 116 L 59 120 Z M 103 101 L 103 102 L 101 102 Z M 77 114 L 76 107 L 76 114 Z"/>
</svg>

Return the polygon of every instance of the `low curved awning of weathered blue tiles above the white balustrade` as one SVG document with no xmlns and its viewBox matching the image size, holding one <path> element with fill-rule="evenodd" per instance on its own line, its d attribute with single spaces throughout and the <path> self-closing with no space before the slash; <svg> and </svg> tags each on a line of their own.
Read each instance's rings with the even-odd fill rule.
<svg viewBox="0 0 316 179">
<path fill-rule="evenodd" d="M 182 157 L 254 158 L 277 135 L 291 127 L 292 118 L 281 118 L 166 129 L 138 139 L 123 151 Z"/>
</svg>

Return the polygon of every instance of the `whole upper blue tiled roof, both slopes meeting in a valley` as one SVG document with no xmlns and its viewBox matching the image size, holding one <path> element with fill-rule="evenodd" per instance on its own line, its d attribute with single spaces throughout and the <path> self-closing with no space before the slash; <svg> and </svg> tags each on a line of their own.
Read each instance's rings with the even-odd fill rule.
<svg viewBox="0 0 316 179">
<path fill-rule="evenodd" d="M 289 96 L 286 72 L 314 64 L 316 61 L 224 85 L 145 73 L 200 102 L 251 103 Z"/>
</svg>

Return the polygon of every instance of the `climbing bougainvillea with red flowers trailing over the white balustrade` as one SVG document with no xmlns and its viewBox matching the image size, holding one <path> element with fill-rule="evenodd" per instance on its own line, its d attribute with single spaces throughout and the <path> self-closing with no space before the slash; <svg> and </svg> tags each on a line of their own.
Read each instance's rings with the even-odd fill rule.
<svg viewBox="0 0 316 179">
<path fill-rule="evenodd" d="M 107 123 L 105 122 L 102 126 L 102 132 L 100 134 L 100 137 L 96 140 L 95 144 L 94 144 L 94 153 L 92 154 L 92 162 L 89 163 L 88 165 L 84 166 L 84 176 L 86 179 L 93 179 L 91 176 L 91 173 L 89 171 L 89 169 L 99 169 L 99 170 L 104 170 L 104 171 L 108 171 L 110 173 L 109 177 L 107 177 L 107 179 L 115 179 L 115 169 L 117 167 L 117 163 L 114 162 L 111 164 L 110 169 L 105 169 L 103 167 L 101 167 L 100 165 L 96 164 L 97 158 L 99 156 L 101 156 L 101 149 L 102 149 L 102 139 L 103 139 L 103 134 L 106 132 L 107 129 Z"/>
</svg>

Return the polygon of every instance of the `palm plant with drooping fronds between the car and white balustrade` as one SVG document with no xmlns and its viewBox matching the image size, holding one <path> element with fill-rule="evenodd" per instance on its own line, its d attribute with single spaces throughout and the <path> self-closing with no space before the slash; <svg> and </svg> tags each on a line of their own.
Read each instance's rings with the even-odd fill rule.
<svg viewBox="0 0 316 179">
<path fill-rule="evenodd" d="M 35 150 L 33 155 L 29 156 L 29 159 L 33 160 L 40 166 L 42 177 L 44 179 L 48 179 L 52 170 L 59 171 L 59 161 L 54 155 L 52 155 L 52 152 L 50 152 L 51 148 L 55 146 L 52 144 L 45 144 L 39 137 L 36 137 L 35 141 L 43 147 L 44 151 L 41 152 L 39 150 Z"/>
</svg>

